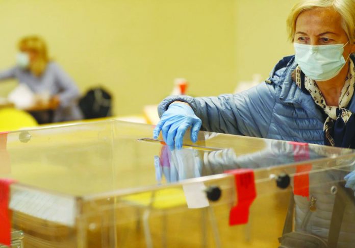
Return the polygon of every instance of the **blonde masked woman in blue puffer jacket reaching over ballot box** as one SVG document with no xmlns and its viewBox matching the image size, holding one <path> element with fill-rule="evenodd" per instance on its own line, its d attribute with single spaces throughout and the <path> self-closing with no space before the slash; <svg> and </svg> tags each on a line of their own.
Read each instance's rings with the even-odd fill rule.
<svg viewBox="0 0 355 248">
<path fill-rule="evenodd" d="M 155 138 L 162 131 L 170 149 L 180 149 L 191 127 L 193 142 L 201 128 L 355 148 L 355 1 L 302 0 L 291 10 L 287 26 L 295 56 L 278 62 L 268 80 L 238 94 L 167 97 L 158 107 L 161 120 Z M 355 175 L 346 179 L 349 183 Z M 326 190 L 310 192 L 320 206 L 313 215 L 308 214 L 307 199 L 294 199 L 296 230 L 325 241 L 334 204 L 334 195 Z M 347 216 L 338 247 L 355 242 L 355 220 Z"/>
</svg>

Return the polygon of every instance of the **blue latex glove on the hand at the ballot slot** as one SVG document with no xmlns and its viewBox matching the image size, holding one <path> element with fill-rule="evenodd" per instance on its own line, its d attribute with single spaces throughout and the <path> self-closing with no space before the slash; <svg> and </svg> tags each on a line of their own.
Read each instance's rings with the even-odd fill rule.
<svg viewBox="0 0 355 248">
<path fill-rule="evenodd" d="M 170 150 L 174 150 L 174 144 L 179 150 L 183 147 L 183 138 L 189 127 L 191 127 L 192 142 L 197 141 L 201 124 L 202 121 L 195 115 L 190 106 L 179 103 L 170 104 L 154 129 L 154 138 L 158 138 L 160 131 L 162 131 L 163 139 Z"/>
</svg>

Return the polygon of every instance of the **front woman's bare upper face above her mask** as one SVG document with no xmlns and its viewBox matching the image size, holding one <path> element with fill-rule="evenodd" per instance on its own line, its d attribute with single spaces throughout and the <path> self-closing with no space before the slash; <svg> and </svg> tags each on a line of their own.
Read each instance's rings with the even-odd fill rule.
<svg viewBox="0 0 355 248">
<path fill-rule="evenodd" d="M 343 30 L 342 18 L 334 9 L 314 8 L 303 11 L 296 20 L 295 43 L 307 45 L 345 44 L 348 37 Z M 344 58 L 355 52 L 350 42 L 344 46 Z"/>
</svg>

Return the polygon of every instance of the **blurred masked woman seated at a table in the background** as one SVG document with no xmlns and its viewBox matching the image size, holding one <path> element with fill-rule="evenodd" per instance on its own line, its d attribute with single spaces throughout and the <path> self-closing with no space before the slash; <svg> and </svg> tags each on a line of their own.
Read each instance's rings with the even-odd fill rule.
<svg viewBox="0 0 355 248">
<path fill-rule="evenodd" d="M 35 94 L 49 93 L 49 101 L 38 102 L 28 110 L 39 123 L 81 119 L 78 87 L 58 64 L 48 59 L 45 42 L 28 36 L 20 40 L 18 48 L 17 65 L 0 71 L 0 80 L 15 78 Z"/>
</svg>

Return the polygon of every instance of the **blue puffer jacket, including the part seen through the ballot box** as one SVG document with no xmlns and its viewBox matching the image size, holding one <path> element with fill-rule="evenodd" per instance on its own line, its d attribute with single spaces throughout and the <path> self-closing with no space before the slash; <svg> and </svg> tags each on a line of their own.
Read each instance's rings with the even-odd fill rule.
<svg viewBox="0 0 355 248">
<path fill-rule="evenodd" d="M 353 56 L 351 59 L 355 63 Z M 202 120 L 201 129 L 205 131 L 324 144 L 325 117 L 312 96 L 303 92 L 293 82 L 291 73 L 296 66 L 294 56 L 285 57 L 276 64 L 268 80 L 238 94 L 196 98 L 167 97 L 158 107 L 159 115 L 167 110 L 170 103 L 182 101 L 193 108 L 195 114 Z M 353 99 L 349 110 L 355 112 Z M 245 162 L 247 162 L 245 167 L 253 166 L 252 161 Z M 338 174 L 337 178 L 334 178 L 335 176 L 327 174 L 327 171 L 312 173 L 310 182 L 339 181 L 345 176 Z M 310 211 L 310 202 L 306 197 L 295 196 L 296 231 L 306 231 L 327 240 L 335 201 L 335 196 L 330 190 L 332 186 L 332 183 L 320 183 L 319 186 L 310 188 L 310 196 L 317 201 L 315 212 Z M 354 209 L 346 205 L 338 248 L 354 247 L 353 230 L 355 230 Z"/>
</svg>

